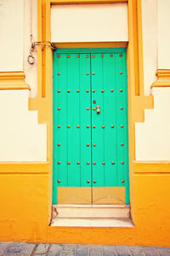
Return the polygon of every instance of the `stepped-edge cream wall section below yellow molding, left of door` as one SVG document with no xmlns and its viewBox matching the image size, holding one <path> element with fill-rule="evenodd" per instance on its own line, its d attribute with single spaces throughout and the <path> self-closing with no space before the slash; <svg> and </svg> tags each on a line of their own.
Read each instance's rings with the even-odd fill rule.
<svg viewBox="0 0 170 256">
<path fill-rule="evenodd" d="M 46 161 L 47 127 L 28 111 L 28 90 L 0 90 L 0 161 Z"/>
</svg>

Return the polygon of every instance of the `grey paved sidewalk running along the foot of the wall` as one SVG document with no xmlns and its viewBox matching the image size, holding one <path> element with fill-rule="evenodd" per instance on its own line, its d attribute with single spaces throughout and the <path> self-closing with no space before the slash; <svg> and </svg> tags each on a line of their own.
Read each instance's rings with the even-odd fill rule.
<svg viewBox="0 0 170 256">
<path fill-rule="evenodd" d="M 0 242 L 0 256 L 170 256 L 165 247 Z"/>
</svg>

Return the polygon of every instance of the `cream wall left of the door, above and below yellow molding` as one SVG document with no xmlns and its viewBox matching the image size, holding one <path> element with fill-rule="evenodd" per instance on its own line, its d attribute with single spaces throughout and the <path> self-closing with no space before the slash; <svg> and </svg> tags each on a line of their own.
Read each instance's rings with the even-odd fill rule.
<svg viewBox="0 0 170 256">
<path fill-rule="evenodd" d="M 28 111 L 28 97 L 37 96 L 37 49 L 33 53 L 35 65 L 27 62 L 31 34 L 37 41 L 37 1 L 1 0 L 0 72 L 24 71 L 31 93 L 0 90 L 0 161 L 47 159 L 46 125 L 37 123 L 37 111 Z"/>
</svg>

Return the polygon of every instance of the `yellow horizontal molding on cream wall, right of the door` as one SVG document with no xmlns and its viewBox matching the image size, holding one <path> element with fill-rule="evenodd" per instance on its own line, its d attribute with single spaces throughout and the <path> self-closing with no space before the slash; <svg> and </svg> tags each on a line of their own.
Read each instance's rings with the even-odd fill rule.
<svg viewBox="0 0 170 256">
<path fill-rule="evenodd" d="M 157 80 L 151 84 L 154 87 L 170 87 L 170 69 L 158 69 L 156 71 Z"/>
</svg>

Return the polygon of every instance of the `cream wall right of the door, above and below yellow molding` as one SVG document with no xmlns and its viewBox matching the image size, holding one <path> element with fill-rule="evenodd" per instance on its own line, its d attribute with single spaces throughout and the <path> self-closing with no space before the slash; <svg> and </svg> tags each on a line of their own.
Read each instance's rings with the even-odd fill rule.
<svg viewBox="0 0 170 256">
<path fill-rule="evenodd" d="M 155 82 L 156 69 L 170 68 L 168 47 L 170 36 L 167 33 L 167 24 L 170 23 L 170 2 L 143 1 L 144 9 L 146 9 L 145 15 L 143 14 L 144 90 L 146 92 Z M 167 76 L 167 85 L 169 85 L 168 79 Z M 170 88 L 154 88 L 150 93 L 154 95 L 154 109 L 145 110 L 144 124 L 136 124 L 136 160 L 170 160 L 168 119 Z"/>
</svg>

